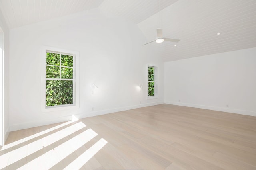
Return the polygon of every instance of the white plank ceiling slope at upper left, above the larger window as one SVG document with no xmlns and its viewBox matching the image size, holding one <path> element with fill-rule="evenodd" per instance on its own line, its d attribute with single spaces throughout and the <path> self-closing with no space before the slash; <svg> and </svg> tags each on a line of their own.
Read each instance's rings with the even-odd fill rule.
<svg viewBox="0 0 256 170">
<path fill-rule="evenodd" d="M 97 8 L 103 0 L 0 0 L 9 28 Z"/>
</svg>

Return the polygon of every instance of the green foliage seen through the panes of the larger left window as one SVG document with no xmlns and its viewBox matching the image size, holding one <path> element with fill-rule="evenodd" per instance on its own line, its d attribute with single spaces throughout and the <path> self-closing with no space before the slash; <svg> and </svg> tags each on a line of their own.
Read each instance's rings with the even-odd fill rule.
<svg viewBox="0 0 256 170">
<path fill-rule="evenodd" d="M 54 80 L 52 80 L 54 79 Z M 56 80 L 62 79 L 62 80 Z M 70 79 L 70 80 L 63 80 Z M 73 103 L 73 56 L 46 53 L 46 106 Z"/>
</svg>

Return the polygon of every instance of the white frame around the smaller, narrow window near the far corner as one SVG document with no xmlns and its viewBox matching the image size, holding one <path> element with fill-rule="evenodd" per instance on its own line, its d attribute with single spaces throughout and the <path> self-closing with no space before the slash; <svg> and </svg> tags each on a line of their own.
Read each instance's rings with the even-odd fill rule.
<svg viewBox="0 0 256 170">
<path fill-rule="evenodd" d="M 148 76 L 150 73 L 148 73 L 148 68 L 154 67 L 154 96 L 148 96 L 148 83 L 152 82 L 148 80 Z M 154 66 L 154 64 L 147 64 L 147 100 L 149 99 L 156 99 L 158 98 L 158 67 Z"/>
</svg>

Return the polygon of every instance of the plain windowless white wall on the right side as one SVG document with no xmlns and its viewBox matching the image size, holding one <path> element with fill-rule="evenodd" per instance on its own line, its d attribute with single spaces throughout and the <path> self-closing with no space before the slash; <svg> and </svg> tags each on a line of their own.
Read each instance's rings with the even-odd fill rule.
<svg viewBox="0 0 256 170">
<path fill-rule="evenodd" d="M 164 101 L 256 116 L 256 48 L 164 63 Z"/>
</svg>

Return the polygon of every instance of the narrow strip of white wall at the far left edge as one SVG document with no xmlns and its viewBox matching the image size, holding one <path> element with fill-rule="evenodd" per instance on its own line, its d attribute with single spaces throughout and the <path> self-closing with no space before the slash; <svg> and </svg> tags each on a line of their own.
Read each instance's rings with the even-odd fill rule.
<svg viewBox="0 0 256 170">
<path fill-rule="evenodd" d="M 0 10 L 0 27 L 4 32 L 4 90 L 3 90 L 3 100 L 4 100 L 4 141 L 6 141 L 9 134 L 9 29 L 4 20 L 4 16 Z M 1 145 L 1 144 L 0 144 Z"/>
</svg>

